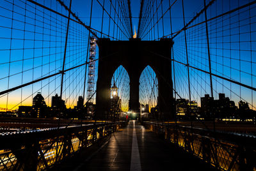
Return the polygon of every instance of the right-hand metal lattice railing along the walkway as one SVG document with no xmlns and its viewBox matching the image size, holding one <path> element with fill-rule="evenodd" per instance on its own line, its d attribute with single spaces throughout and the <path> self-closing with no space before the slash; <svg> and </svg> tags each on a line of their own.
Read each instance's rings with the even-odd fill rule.
<svg viewBox="0 0 256 171">
<path fill-rule="evenodd" d="M 256 137 L 204 128 L 144 122 L 165 140 L 210 163 L 218 170 L 256 170 Z M 215 138 L 218 137 L 218 138 Z"/>
</svg>

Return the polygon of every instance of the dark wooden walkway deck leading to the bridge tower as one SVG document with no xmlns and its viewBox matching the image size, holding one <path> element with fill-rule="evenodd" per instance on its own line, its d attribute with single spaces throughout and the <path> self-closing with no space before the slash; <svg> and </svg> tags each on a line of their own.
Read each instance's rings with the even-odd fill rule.
<svg viewBox="0 0 256 171">
<path fill-rule="evenodd" d="M 74 170 L 213 170 L 135 121 L 82 160 L 72 163 Z"/>
</svg>

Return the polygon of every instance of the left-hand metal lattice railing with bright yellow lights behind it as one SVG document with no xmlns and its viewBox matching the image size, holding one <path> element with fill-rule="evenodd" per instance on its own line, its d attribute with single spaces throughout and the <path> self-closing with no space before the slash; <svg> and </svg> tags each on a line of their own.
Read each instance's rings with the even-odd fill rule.
<svg viewBox="0 0 256 171">
<path fill-rule="evenodd" d="M 0 170 L 47 170 L 124 125 L 94 123 L 1 133 Z"/>
</svg>

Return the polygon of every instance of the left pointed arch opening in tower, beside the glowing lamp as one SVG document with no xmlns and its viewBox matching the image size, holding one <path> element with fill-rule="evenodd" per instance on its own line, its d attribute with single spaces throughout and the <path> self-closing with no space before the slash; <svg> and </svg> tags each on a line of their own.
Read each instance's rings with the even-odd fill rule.
<svg viewBox="0 0 256 171">
<path fill-rule="evenodd" d="M 116 68 L 111 78 L 111 87 L 116 86 L 116 94 L 111 92 L 111 99 L 118 96 L 120 101 L 120 108 L 122 112 L 127 112 L 129 110 L 129 99 L 130 99 L 130 78 L 129 74 L 125 70 L 124 66 L 120 65 Z M 113 91 L 113 90 L 111 90 Z M 118 104 L 119 105 L 119 104 Z"/>
</svg>

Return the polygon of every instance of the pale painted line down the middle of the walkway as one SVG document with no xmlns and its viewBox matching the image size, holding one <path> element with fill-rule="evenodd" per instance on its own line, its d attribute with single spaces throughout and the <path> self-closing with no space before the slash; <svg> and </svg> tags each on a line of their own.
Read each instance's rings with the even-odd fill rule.
<svg viewBox="0 0 256 171">
<path fill-rule="evenodd" d="M 133 121 L 133 131 L 132 131 L 132 154 L 131 154 L 131 171 L 141 171 L 140 165 L 140 152 L 138 147 L 135 121 Z"/>
</svg>

